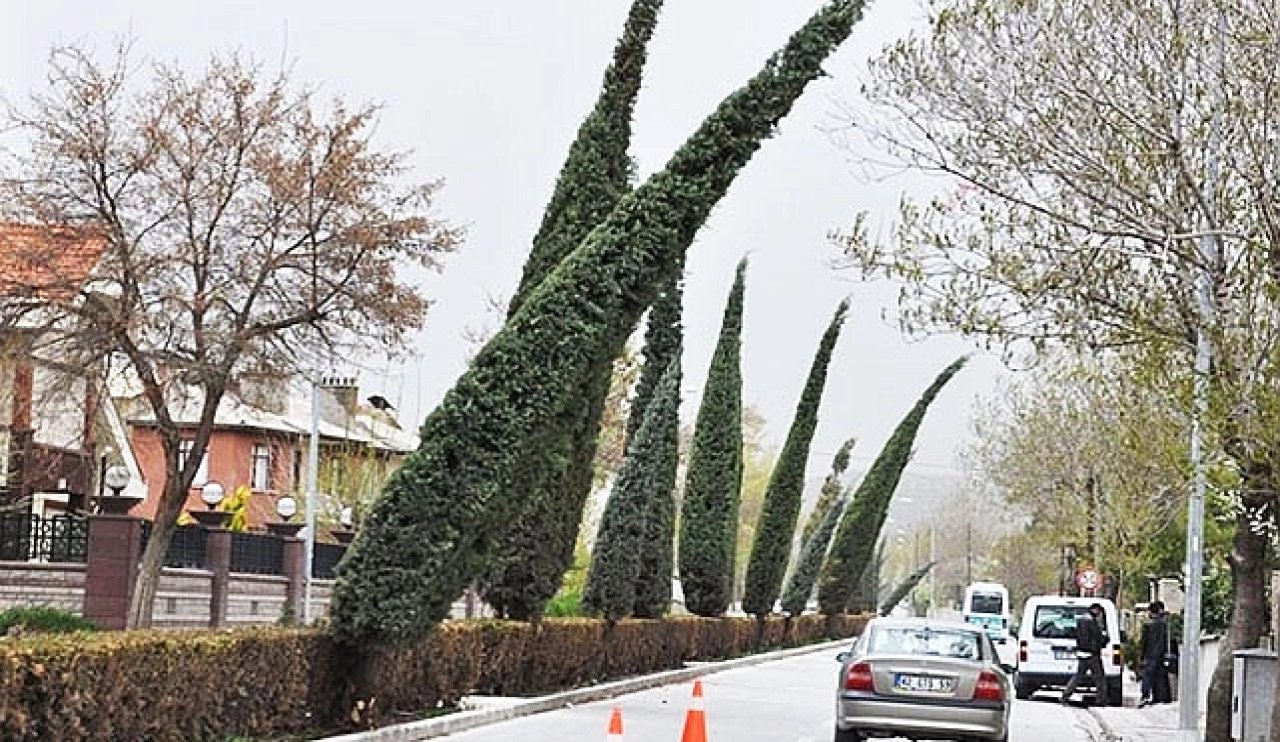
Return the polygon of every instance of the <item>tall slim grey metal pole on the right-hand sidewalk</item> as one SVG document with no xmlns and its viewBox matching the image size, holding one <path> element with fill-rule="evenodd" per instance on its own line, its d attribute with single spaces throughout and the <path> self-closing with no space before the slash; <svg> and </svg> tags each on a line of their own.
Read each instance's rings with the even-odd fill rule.
<svg viewBox="0 0 1280 742">
<path fill-rule="evenodd" d="M 1224 46 L 1226 41 L 1226 15 L 1222 8 L 1217 13 L 1217 59 L 1219 82 L 1225 73 Z M 1221 87 L 1219 88 L 1221 90 Z M 1204 418 L 1208 414 L 1210 388 L 1208 375 L 1213 365 L 1211 330 L 1217 320 L 1213 306 L 1213 266 L 1221 255 L 1221 244 L 1216 233 L 1216 220 L 1208 212 L 1212 209 L 1219 179 L 1219 147 L 1221 143 L 1222 105 L 1213 109 L 1213 119 L 1206 147 L 1206 193 L 1203 202 L 1207 226 L 1199 239 L 1201 269 L 1196 276 L 1196 307 L 1198 326 L 1196 328 L 1196 375 L 1194 408 L 1192 412 L 1190 458 L 1194 472 L 1192 493 L 1187 499 L 1187 609 L 1183 615 L 1183 651 L 1179 660 L 1181 672 L 1178 674 L 1178 728 L 1188 739 L 1199 737 L 1199 635 L 1201 635 L 1201 594 L 1204 573 L 1204 490 L 1207 472 L 1204 466 Z"/>
</svg>

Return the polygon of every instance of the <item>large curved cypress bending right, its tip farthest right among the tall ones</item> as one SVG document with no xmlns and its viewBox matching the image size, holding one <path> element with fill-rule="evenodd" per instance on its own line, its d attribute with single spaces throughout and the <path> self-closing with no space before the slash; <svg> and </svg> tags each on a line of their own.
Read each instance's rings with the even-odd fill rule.
<svg viewBox="0 0 1280 742">
<path fill-rule="evenodd" d="M 902 470 L 911 459 L 915 434 L 920 430 L 924 413 L 947 381 L 964 367 L 966 358 L 959 358 L 934 379 L 933 384 L 915 403 L 915 407 L 897 423 L 893 435 L 876 457 L 872 468 L 863 477 L 858 493 L 845 517 L 840 519 L 836 539 L 822 567 L 818 582 L 818 606 L 827 615 L 842 613 L 850 605 L 858 581 L 863 577 L 876 550 L 888 505 L 902 478 Z"/>
</svg>

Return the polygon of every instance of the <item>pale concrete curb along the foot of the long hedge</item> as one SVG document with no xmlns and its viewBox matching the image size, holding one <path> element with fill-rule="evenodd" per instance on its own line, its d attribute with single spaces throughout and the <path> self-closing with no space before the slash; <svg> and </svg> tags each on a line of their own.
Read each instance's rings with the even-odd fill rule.
<svg viewBox="0 0 1280 742">
<path fill-rule="evenodd" d="M 758 655 L 748 655 L 731 660 L 699 663 L 694 667 L 666 670 L 652 675 L 623 678 L 621 681 L 612 681 L 598 686 L 561 691 L 549 696 L 538 696 L 535 699 L 517 701 L 509 706 L 458 711 L 447 716 L 406 722 L 403 724 L 394 724 L 392 727 L 383 727 L 369 732 L 353 732 L 351 734 L 339 734 L 337 737 L 317 737 L 315 742 L 417 742 L 419 739 L 430 739 L 433 737 L 454 734 L 457 732 L 488 727 L 489 724 L 518 719 L 521 716 L 531 716 L 534 714 L 541 714 L 544 711 L 552 711 L 576 704 L 589 704 L 591 701 L 613 699 L 616 696 L 634 693 L 636 691 L 646 691 L 649 688 L 685 683 L 694 678 L 723 673 L 726 670 L 748 668 L 803 654 L 840 649 L 849 646 L 851 641 L 852 637 L 772 652 L 762 652 Z"/>
</svg>

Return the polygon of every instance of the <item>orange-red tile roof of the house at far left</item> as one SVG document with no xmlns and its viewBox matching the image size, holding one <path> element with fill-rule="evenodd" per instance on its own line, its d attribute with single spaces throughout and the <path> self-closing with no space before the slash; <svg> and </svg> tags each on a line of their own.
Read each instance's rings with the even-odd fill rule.
<svg viewBox="0 0 1280 742">
<path fill-rule="evenodd" d="M 0 221 L 0 296 L 67 301 L 106 249 L 100 232 Z"/>
</svg>

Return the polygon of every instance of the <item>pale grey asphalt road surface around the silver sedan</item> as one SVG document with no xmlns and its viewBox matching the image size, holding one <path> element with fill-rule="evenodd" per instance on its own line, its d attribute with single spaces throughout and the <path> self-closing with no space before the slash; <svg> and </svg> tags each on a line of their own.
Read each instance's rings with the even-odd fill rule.
<svg viewBox="0 0 1280 742">
<path fill-rule="evenodd" d="M 708 742 L 826 742 L 832 738 L 835 651 L 819 651 L 703 678 Z M 600 742 L 622 709 L 625 742 L 680 742 L 692 683 L 667 686 L 494 724 L 453 742 Z M 1048 700 L 1014 705 L 1012 742 L 1088 742 L 1083 709 Z"/>
</svg>

